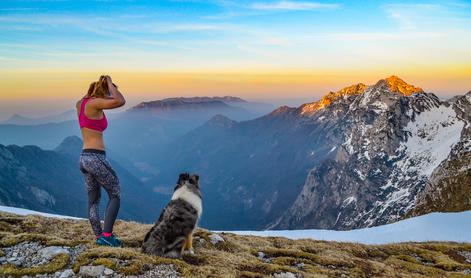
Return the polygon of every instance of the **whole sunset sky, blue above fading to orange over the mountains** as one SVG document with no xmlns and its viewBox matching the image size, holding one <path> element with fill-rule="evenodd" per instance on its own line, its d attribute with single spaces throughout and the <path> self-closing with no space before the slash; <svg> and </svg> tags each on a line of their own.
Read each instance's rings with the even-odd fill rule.
<svg viewBox="0 0 471 278">
<path fill-rule="evenodd" d="M 398 75 L 471 90 L 471 1 L 0 1 L 0 120 L 73 107 L 109 74 L 128 105 L 293 103 Z"/>
</svg>

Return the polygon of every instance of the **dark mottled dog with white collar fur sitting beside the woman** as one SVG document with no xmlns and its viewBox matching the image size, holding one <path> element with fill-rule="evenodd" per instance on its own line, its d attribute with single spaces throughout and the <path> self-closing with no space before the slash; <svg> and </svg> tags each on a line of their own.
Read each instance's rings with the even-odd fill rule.
<svg viewBox="0 0 471 278">
<path fill-rule="evenodd" d="M 193 252 L 193 231 L 203 212 L 199 176 L 180 174 L 172 200 L 147 233 L 142 252 L 181 258 L 186 249 Z"/>
</svg>

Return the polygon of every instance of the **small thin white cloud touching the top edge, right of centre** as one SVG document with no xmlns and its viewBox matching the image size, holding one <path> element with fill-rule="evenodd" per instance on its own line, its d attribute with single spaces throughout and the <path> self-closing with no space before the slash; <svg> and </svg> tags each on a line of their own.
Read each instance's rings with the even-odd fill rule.
<svg viewBox="0 0 471 278">
<path fill-rule="evenodd" d="M 308 11 L 321 9 L 336 9 L 338 4 L 326 4 L 319 2 L 294 2 L 279 1 L 273 3 L 253 3 L 250 8 L 263 11 Z"/>
</svg>

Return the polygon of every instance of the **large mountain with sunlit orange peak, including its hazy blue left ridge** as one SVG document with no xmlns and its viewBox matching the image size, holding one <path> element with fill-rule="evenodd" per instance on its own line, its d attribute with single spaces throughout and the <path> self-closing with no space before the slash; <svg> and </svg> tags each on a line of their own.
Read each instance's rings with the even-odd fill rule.
<svg viewBox="0 0 471 278">
<path fill-rule="evenodd" d="M 250 121 L 212 119 L 153 164 L 164 181 L 201 174 L 210 228 L 377 226 L 408 215 L 442 168 L 458 186 L 446 165 L 470 164 L 469 107 L 467 96 L 443 101 L 391 76 Z"/>
</svg>

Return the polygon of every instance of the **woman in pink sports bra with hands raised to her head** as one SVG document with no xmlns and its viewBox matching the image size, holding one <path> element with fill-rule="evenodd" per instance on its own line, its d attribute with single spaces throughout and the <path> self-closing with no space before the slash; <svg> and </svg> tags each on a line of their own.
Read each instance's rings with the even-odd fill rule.
<svg viewBox="0 0 471 278">
<path fill-rule="evenodd" d="M 120 206 L 120 185 L 116 173 L 106 160 L 103 131 L 108 126 L 104 109 L 114 109 L 125 104 L 123 95 L 109 76 L 101 76 L 93 82 L 87 95 L 77 102 L 77 114 L 83 138 L 80 155 L 80 170 L 85 176 L 88 192 L 88 218 L 96 236 L 96 243 L 106 246 L 121 246 L 113 235 L 113 225 Z M 108 193 L 105 224 L 101 228 L 98 206 L 101 187 Z"/>
</svg>

